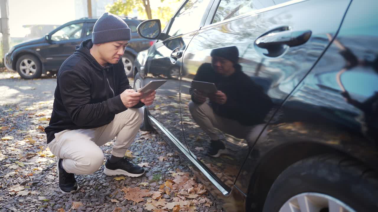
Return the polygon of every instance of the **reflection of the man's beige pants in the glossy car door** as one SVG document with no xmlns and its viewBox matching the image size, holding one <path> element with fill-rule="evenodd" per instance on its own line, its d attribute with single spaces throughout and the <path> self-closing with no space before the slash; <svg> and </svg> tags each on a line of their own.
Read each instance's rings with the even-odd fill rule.
<svg viewBox="0 0 378 212">
<path fill-rule="evenodd" d="M 211 140 L 219 139 L 218 131 L 216 130 L 218 129 L 225 134 L 245 139 L 248 142 L 254 142 L 265 126 L 265 124 L 245 126 L 240 124 L 239 121 L 221 117 L 214 113 L 207 102 L 196 104 L 191 101 L 189 102 L 189 111 L 195 122 L 209 135 Z"/>
</svg>

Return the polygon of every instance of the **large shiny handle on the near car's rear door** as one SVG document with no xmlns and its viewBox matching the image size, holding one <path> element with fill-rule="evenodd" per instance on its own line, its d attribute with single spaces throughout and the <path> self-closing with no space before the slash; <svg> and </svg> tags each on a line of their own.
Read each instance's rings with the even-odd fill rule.
<svg viewBox="0 0 378 212">
<path fill-rule="evenodd" d="M 257 38 L 256 45 L 263 49 L 276 48 L 277 46 L 299 46 L 308 41 L 311 37 L 311 31 L 283 31 L 273 32 Z"/>
</svg>

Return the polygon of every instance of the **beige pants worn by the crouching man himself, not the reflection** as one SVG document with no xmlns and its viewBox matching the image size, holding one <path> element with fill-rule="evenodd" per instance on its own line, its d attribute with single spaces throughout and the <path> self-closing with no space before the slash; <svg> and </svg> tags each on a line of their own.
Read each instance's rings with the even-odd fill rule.
<svg viewBox="0 0 378 212">
<path fill-rule="evenodd" d="M 68 173 L 93 174 L 104 163 L 104 154 L 99 146 L 117 137 L 112 155 L 123 157 L 142 121 L 143 110 L 129 108 L 116 114 L 111 123 L 102 127 L 56 133 L 48 147 L 54 155 L 63 159 L 63 168 Z"/>
</svg>

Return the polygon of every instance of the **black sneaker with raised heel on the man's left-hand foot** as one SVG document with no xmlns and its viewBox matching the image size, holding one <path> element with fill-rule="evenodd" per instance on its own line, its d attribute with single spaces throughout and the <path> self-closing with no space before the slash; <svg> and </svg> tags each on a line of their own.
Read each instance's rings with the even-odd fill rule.
<svg viewBox="0 0 378 212">
<path fill-rule="evenodd" d="M 75 175 L 66 172 L 62 167 L 62 160 L 59 158 L 56 170 L 58 171 L 58 178 L 59 178 L 59 189 L 63 194 L 72 194 L 79 190 L 79 186 L 77 186 L 77 182 L 75 179 Z"/>
</svg>

